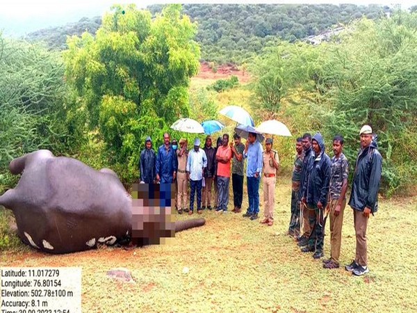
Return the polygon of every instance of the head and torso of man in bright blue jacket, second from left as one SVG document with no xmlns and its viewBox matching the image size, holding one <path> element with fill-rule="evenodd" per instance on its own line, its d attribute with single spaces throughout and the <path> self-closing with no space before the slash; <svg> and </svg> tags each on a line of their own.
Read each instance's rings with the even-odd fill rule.
<svg viewBox="0 0 417 313">
<path fill-rule="evenodd" d="M 172 184 L 177 177 L 177 155 L 170 143 L 170 134 L 163 134 L 163 142 L 156 157 L 156 180 L 161 184 Z"/>
</svg>

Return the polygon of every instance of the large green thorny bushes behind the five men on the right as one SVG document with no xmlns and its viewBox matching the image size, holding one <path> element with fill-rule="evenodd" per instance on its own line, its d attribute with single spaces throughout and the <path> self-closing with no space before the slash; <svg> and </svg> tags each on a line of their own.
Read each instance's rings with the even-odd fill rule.
<svg viewBox="0 0 417 313">
<path fill-rule="evenodd" d="M 398 11 L 391 19 L 354 22 L 334 42 L 318 47 L 270 49 L 252 65 L 258 115 L 283 120 L 296 132 L 321 131 L 327 145 L 343 135 L 352 167 L 358 131 L 369 124 L 384 158 L 382 191 L 390 196 L 414 185 L 410 154 L 416 155 L 417 145 L 407 134 L 415 131 L 417 117 L 416 23 L 416 15 Z"/>
</svg>

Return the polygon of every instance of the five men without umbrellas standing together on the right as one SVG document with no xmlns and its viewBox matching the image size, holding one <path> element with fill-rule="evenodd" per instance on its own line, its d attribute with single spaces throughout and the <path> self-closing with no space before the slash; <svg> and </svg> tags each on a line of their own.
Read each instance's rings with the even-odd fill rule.
<svg viewBox="0 0 417 313">
<path fill-rule="evenodd" d="M 365 125 L 359 131 L 361 148 L 354 165 L 352 192 L 348 204 L 353 209 L 356 234 L 356 254 L 345 266 L 354 275 L 369 272 L 366 228 L 370 214 L 378 209 L 377 195 L 382 174 L 382 157 L 372 128 Z M 297 138 L 291 195 L 291 222 L 288 234 L 295 236 L 302 252 L 314 252 L 324 257 L 325 222 L 330 219 L 330 257 L 324 268 L 338 268 L 341 252 L 343 212 L 346 204 L 349 161 L 343 154 L 342 136 L 333 138 L 332 159 L 325 152 L 320 133 L 311 138 Z"/>
</svg>

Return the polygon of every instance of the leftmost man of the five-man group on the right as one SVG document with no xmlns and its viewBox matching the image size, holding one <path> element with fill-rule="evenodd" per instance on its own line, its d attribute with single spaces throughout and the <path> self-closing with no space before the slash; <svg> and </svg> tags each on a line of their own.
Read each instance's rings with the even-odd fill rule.
<svg viewBox="0 0 417 313">
<path fill-rule="evenodd" d="M 302 160 L 304 159 L 304 150 L 302 149 L 302 138 L 297 138 L 295 143 L 295 161 L 293 166 L 293 177 L 292 177 L 292 192 L 291 192 L 291 220 L 290 226 L 288 227 L 288 234 L 290 236 L 300 235 L 300 179 Z"/>
</svg>

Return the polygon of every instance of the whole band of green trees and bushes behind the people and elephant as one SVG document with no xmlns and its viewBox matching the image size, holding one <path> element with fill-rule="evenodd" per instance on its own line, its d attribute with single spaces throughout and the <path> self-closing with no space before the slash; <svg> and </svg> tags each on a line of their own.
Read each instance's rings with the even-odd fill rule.
<svg viewBox="0 0 417 313">
<path fill-rule="evenodd" d="M 192 8 L 171 5 L 155 15 L 156 11 L 133 5 L 115 6 L 95 33 L 69 37 L 63 51 L 0 37 L 1 191 L 16 182 L 8 173 L 8 162 L 40 148 L 79 158 L 95 168 L 114 168 L 129 185 L 138 177 L 138 156 L 148 134 L 159 145 L 163 131 L 177 118 L 217 118 L 221 106 L 241 104 L 243 97 L 256 122 L 278 118 L 295 136 L 322 131 L 327 141 L 342 134 L 351 162 L 357 153 L 359 125 L 370 123 L 384 157 L 382 192 L 414 190 L 416 13 L 397 10 L 391 17 L 355 19 L 341 34 L 317 46 L 277 40 L 260 47 L 246 63 L 250 83 L 234 79 L 229 85 L 213 82 L 211 88 L 199 88 L 193 77 L 207 51 L 199 44 L 201 24 L 186 13 L 201 16 L 210 11 L 217 16 L 218 12 L 220 23 L 229 8 L 240 6 Z M 284 8 L 288 19 L 300 19 L 297 12 L 310 7 L 279 6 Z M 317 16 L 324 8 L 310 9 Z M 346 15 L 341 8 L 337 14 L 330 10 L 333 6 L 326 8 L 332 17 L 320 28 L 354 12 L 352 6 L 341 7 Z M 363 10 L 361 16 L 379 14 L 372 6 L 358 8 Z M 265 6 L 256 10 L 269 11 Z M 231 20 L 233 26 L 222 28 L 238 29 L 236 23 Z M 245 28 L 240 32 L 245 33 Z M 224 51 L 224 58 L 232 55 Z M 234 96 L 219 100 L 224 93 Z M 284 173 L 290 172 L 292 141 L 281 141 L 277 149 Z"/>
</svg>

